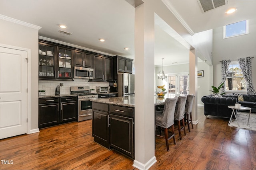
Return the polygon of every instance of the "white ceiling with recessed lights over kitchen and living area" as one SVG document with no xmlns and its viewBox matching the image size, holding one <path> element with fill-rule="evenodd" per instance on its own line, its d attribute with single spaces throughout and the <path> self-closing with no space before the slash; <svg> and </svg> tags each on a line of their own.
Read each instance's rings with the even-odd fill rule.
<svg viewBox="0 0 256 170">
<path fill-rule="evenodd" d="M 163 1 L 194 33 L 256 16 L 256 0 L 229 0 L 205 13 L 197 0 Z M 231 7 L 238 10 L 225 14 Z M 0 0 L 0 14 L 42 27 L 40 36 L 134 59 L 134 7 L 126 0 Z M 59 24 L 67 25 L 62 30 L 72 35 L 59 33 Z M 165 31 L 156 25 L 155 65 L 161 66 L 162 58 L 164 65 L 188 63 L 188 49 Z"/>
</svg>

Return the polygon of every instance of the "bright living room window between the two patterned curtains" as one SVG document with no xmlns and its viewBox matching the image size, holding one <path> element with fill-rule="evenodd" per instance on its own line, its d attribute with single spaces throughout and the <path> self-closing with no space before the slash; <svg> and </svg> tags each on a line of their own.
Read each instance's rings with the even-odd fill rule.
<svg viewBox="0 0 256 170">
<path fill-rule="evenodd" d="M 226 91 L 227 90 L 245 90 L 246 91 L 246 80 L 244 79 L 244 75 L 237 61 L 230 63 L 225 86 L 226 86 Z"/>
</svg>

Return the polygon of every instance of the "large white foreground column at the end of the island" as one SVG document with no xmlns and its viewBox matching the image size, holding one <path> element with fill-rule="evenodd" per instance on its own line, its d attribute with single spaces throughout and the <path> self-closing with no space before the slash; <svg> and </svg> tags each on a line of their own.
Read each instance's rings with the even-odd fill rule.
<svg viewBox="0 0 256 170">
<path fill-rule="evenodd" d="M 140 170 L 146 170 L 156 162 L 154 156 L 154 10 L 152 10 L 154 8 L 147 2 L 135 8 L 135 160 L 133 166 Z"/>
</svg>

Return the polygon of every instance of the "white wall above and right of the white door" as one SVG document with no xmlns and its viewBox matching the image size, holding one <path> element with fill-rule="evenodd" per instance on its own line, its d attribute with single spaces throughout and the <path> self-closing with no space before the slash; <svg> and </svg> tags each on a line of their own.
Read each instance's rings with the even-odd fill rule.
<svg viewBox="0 0 256 170">
<path fill-rule="evenodd" d="M 38 30 L 0 19 L 0 43 L 31 50 L 31 129 L 38 129 Z"/>
</svg>

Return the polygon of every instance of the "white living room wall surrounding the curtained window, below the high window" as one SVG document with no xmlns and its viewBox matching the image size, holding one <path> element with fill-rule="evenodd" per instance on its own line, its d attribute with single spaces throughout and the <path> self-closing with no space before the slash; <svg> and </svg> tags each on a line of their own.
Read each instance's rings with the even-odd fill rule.
<svg viewBox="0 0 256 170">
<path fill-rule="evenodd" d="M 250 20 L 249 34 L 226 39 L 222 37 L 222 27 L 213 30 L 214 86 L 218 86 L 221 82 L 220 61 L 254 57 L 252 59 L 252 84 L 256 88 L 256 19 Z"/>
</svg>

